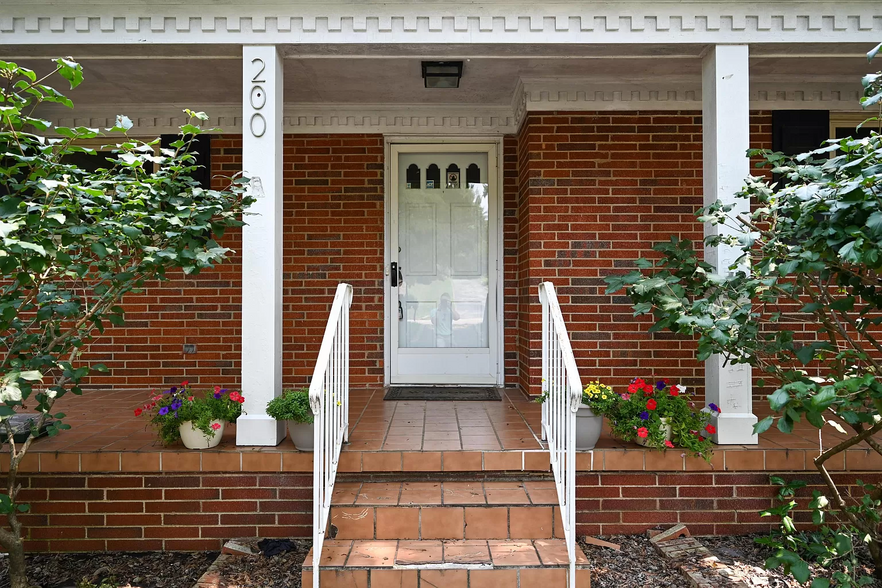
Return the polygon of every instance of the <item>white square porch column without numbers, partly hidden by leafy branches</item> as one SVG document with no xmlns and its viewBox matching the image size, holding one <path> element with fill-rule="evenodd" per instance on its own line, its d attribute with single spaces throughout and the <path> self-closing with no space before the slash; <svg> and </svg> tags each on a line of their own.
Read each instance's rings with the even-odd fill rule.
<svg viewBox="0 0 882 588">
<path fill-rule="evenodd" d="M 735 203 L 749 212 L 749 203 L 735 193 L 750 174 L 747 148 L 750 143 L 747 45 L 716 45 L 705 53 L 701 66 L 702 132 L 704 142 L 704 204 L 716 200 Z M 736 209 L 737 210 L 737 209 Z M 733 211 L 735 212 L 735 211 Z M 705 235 L 731 232 L 705 225 Z M 705 260 L 725 274 L 738 259 L 732 247 L 706 248 Z M 721 445 L 757 442 L 753 425 L 751 368 L 745 364 L 723 365 L 715 355 L 705 362 L 706 402 L 716 404 L 713 440 Z"/>
</svg>

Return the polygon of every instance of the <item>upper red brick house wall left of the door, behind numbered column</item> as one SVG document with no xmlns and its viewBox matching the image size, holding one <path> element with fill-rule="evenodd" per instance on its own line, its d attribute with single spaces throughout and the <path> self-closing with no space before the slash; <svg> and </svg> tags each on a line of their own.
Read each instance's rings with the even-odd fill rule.
<svg viewBox="0 0 882 588">
<path fill-rule="evenodd" d="M 287 135 L 284 140 L 283 383 L 312 374 L 340 281 L 354 287 L 351 382 L 383 379 L 383 138 Z M 214 137 L 215 188 L 242 169 L 241 136 Z M 247 221 L 247 219 L 246 219 Z M 222 243 L 236 251 L 241 232 Z M 86 356 L 110 372 L 92 387 L 150 388 L 187 378 L 236 385 L 241 375 L 241 258 L 199 276 L 176 273 L 125 298 L 125 327 L 110 328 Z M 185 343 L 197 353 L 184 355 Z"/>
</svg>

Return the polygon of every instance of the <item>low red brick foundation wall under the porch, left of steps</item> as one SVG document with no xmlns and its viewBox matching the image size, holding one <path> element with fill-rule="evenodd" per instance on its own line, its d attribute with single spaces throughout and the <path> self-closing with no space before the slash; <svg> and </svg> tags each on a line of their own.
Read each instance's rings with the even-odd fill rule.
<svg viewBox="0 0 882 588">
<path fill-rule="evenodd" d="M 312 535 L 312 475 L 52 474 L 22 479 L 29 551 L 218 550 Z"/>
</svg>

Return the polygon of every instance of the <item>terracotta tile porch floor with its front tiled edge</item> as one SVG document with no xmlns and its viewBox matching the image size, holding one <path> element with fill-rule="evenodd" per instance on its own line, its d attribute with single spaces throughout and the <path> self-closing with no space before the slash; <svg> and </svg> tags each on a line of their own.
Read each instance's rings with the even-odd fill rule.
<svg viewBox="0 0 882 588">
<path fill-rule="evenodd" d="M 235 426 L 227 427 L 219 447 L 188 452 L 162 447 L 144 417 L 134 409 L 148 398 L 141 391 L 88 391 L 65 397 L 56 409 L 72 429 L 32 446 L 31 471 L 309 471 L 312 454 L 298 452 L 290 440 L 277 447 L 237 447 Z M 500 402 L 383 401 L 383 389 L 350 393 L 350 443 L 342 472 L 360 471 L 547 471 L 540 442 L 541 407 L 526 395 L 506 390 Z M 824 431 L 830 447 L 841 436 Z M 800 423 L 791 435 L 774 428 L 758 445 L 718 447 L 711 465 L 680 452 L 653 452 L 605 433 L 594 451 L 577 456 L 580 471 L 762 471 L 814 469 L 818 431 Z M 188 456 L 184 457 L 183 453 Z M 37 454 L 40 457 L 37 457 Z M 72 454 L 72 455 L 67 455 Z M 174 454 L 163 462 L 162 455 Z M 882 469 L 882 460 L 865 450 L 848 452 L 848 463 L 832 469 Z M 39 461 L 39 463 L 37 463 Z M 27 462 L 27 460 L 26 460 Z M 76 463 L 74 463 L 76 462 Z"/>
</svg>

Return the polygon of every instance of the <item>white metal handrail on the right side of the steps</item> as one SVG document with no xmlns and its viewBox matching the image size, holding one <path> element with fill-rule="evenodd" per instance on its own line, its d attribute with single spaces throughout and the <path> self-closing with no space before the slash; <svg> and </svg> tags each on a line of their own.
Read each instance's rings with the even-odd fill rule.
<svg viewBox="0 0 882 588">
<path fill-rule="evenodd" d="M 569 557 L 568 585 L 576 585 L 576 411 L 582 380 L 560 312 L 554 284 L 539 285 L 542 303 L 542 438 L 548 442 L 551 470 Z"/>
</svg>

